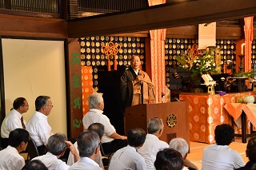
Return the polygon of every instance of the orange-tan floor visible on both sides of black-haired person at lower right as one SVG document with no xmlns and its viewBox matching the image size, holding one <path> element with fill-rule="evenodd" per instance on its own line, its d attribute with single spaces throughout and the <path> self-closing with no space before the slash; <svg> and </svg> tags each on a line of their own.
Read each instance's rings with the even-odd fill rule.
<svg viewBox="0 0 256 170">
<path fill-rule="evenodd" d="M 187 158 L 193 161 L 193 163 L 196 164 L 199 169 L 202 167 L 202 151 L 208 145 L 209 144 L 190 142 L 190 153 L 188 154 Z M 248 161 L 248 158 L 246 157 L 246 145 L 247 144 L 242 143 L 241 138 L 235 139 L 234 142 L 229 145 L 230 148 L 240 153 L 245 163 Z"/>
</svg>

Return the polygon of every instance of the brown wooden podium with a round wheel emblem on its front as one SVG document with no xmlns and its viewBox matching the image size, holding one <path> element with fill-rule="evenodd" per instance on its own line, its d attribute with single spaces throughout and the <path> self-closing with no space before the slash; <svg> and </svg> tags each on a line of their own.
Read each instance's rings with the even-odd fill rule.
<svg viewBox="0 0 256 170">
<path fill-rule="evenodd" d="M 162 118 L 164 130 L 160 140 L 169 144 L 174 137 L 182 137 L 190 144 L 190 121 L 187 101 L 158 104 L 139 104 L 126 108 L 125 133 L 130 128 L 142 128 L 147 132 L 147 121 L 152 117 Z"/>
</svg>

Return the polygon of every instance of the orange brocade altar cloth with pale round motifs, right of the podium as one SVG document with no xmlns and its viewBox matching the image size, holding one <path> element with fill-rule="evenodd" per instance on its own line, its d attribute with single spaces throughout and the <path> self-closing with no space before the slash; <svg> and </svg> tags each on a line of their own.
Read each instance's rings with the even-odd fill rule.
<svg viewBox="0 0 256 170">
<path fill-rule="evenodd" d="M 232 125 L 232 118 L 224 109 L 224 105 L 235 103 L 239 97 L 246 95 L 256 95 L 256 92 L 227 93 L 224 96 L 208 93 L 181 93 L 179 100 L 189 101 L 190 140 L 213 144 L 216 125 Z"/>
</svg>

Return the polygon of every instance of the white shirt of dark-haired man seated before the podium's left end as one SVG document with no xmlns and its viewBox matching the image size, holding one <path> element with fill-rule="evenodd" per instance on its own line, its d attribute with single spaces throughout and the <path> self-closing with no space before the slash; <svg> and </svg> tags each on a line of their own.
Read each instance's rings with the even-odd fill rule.
<svg viewBox="0 0 256 170">
<path fill-rule="evenodd" d="M 146 170 L 144 158 L 130 145 L 120 148 L 110 160 L 110 170 Z"/>
</svg>

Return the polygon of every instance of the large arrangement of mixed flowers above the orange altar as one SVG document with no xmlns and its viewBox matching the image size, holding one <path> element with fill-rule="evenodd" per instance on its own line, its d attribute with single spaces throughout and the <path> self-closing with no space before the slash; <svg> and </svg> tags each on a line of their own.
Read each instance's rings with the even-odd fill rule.
<svg viewBox="0 0 256 170">
<path fill-rule="evenodd" d="M 196 77 L 205 73 L 217 73 L 214 56 L 210 52 L 203 53 L 202 50 L 187 50 L 175 59 L 181 64 L 183 69 L 190 73 L 190 77 Z"/>
</svg>

